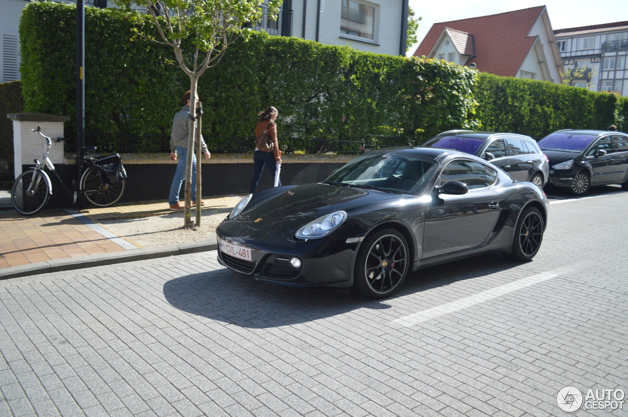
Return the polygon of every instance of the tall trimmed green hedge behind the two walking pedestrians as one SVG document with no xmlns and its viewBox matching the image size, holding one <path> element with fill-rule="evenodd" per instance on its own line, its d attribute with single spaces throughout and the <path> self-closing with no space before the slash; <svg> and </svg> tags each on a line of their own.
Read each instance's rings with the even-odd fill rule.
<svg viewBox="0 0 628 417">
<path fill-rule="evenodd" d="M 98 139 L 106 147 L 133 142 L 139 149 L 167 149 L 189 79 L 166 63 L 173 60 L 171 48 L 131 41 L 131 21 L 137 20 L 116 9 L 85 9 L 86 136 L 126 138 L 117 144 Z M 20 26 L 26 109 L 70 116 L 68 132 L 75 130 L 74 22 L 72 4 L 29 3 Z M 148 24 L 141 29 L 153 30 Z M 257 112 L 269 105 L 279 109 L 280 137 L 303 140 L 428 137 L 472 128 L 474 78 L 474 71 L 444 61 L 254 32 L 199 80 L 203 135 L 211 149 L 241 148 Z"/>
</svg>

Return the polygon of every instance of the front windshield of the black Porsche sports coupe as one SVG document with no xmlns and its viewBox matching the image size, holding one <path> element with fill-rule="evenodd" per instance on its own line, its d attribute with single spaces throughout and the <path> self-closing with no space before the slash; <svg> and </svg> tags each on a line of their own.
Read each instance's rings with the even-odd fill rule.
<svg viewBox="0 0 628 417">
<path fill-rule="evenodd" d="M 416 194 L 429 182 L 436 161 L 410 154 L 364 154 L 338 169 L 325 182 Z"/>
</svg>

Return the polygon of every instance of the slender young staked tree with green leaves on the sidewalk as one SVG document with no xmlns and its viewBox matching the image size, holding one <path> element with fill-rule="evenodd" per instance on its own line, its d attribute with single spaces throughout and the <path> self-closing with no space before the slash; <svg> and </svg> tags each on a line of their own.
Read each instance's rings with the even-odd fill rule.
<svg viewBox="0 0 628 417">
<path fill-rule="evenodd" d="M 190 77 L 190 97 L 197 96 L 198 78 L 213 66 L 218 65 L 229 45 L 237 38 L 246 36 L 251 29 L 244 26 L 255 24 L 263 18 L 263 0 L 114 0 L 134 11 L 138 20 L 148 19 L 153 23 L 158 36 L 136 33 L 140 38 L 169 46 L 176 61 L 171 61 Z M 281 0 L 269 0 L 264 18 L 277 18 Z M 138 25 L 138 28 L 141 27 Z M 193 101 L 193 100 L 192 100 Z M 190 129 L 185 174 L 184 226 L 193 228 L 190 209 L 192 207 L 192 157 L 197 133 L 197 109 L 190 106 Z M 197 140 L 197 143 L 200 142 Z M 200 147 L 199 147 L 200 149 Z M 200 157 L 200 152 L 198 152 Z M 200 161 L 199 161 L 200 162 Z M 197 166 L 197 216 L 200 226 L 200 166 Z"/>
</svg>

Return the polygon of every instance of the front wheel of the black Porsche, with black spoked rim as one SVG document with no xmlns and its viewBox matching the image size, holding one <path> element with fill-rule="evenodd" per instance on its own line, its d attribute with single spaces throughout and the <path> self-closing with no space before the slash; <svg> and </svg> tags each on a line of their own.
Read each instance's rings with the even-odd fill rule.
<svg viewBox="0 0 628 417">
<path fill-rule="evenodd" d="M 355 260 L 354 288 L 369 298 L 386 298 L 406 279 L 409 269 L 406 239 L 394 229 L 372 233 Z"/>
</svg>

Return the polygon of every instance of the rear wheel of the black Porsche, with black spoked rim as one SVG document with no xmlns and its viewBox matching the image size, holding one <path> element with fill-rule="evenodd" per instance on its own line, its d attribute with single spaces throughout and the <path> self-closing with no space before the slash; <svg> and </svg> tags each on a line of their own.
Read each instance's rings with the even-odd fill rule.
<svg viewBox="0 0 628 417">
<path fill-rule="evenodd" d="M 537 208 L 527 208 L 517 220 L 510 257 L 517 261 L 530 261 L 539 251 L 542 241 L 543 216 Z"/>
</svg>

